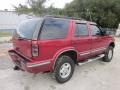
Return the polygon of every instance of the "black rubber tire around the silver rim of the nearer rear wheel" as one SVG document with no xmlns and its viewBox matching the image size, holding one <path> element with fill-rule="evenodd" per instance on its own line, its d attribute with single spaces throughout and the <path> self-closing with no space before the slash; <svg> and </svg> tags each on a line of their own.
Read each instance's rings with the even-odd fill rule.
<svg viewBox="0 0 120 90">
<path fill-rule="evenodd" d="M 65 65 L 65 64 L 68 64 L 68 65 L 71 66 L 70 73 L 66 78 L 62 78 L 62 76 L 60 74 L 60 70 L 61 70 L 62 66 Z M 72 75 L 73 75 L 73 72 L 74 72 L 74 67 L 75 67 L 75 63 L 74 63 L 74 61 L 72 60 L 71 57 L 66 56 L 66 55 L 63 55 L 63 56 L 59 57 L 57 62 L 56 62 L 55 69 L 54 69 L 54 72 L 53 72 L 56 81 L 58 83 L 65 83 L 68 80 L 70 80 Z"/>
</svg>

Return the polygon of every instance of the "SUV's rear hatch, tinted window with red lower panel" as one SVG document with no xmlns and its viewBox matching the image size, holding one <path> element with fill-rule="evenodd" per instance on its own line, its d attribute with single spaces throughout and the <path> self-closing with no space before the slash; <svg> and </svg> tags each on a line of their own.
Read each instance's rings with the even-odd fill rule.
<svg viewBox="0 0 120 90">
<path fill-rule="evenodd" d="M 37 29 L 40 19 L 29 19 L 23 21 L 14 32 L 13 47 L 23 56 L 32 57 L 31 47 L 33 34 Z"/>
</svg>

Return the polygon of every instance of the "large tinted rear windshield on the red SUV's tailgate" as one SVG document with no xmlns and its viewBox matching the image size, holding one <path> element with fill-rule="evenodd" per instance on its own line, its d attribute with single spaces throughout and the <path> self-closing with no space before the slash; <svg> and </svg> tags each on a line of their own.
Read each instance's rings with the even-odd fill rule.
<svg viewBox="0 0 120 90">
<path fill-rule="evenodd" d="M 23 21 L 17 28 L 17 34 L 19 37 L 32 39 L 33 33 L 40 22 L 40 19 L 30 19 Z"/>
</svg>

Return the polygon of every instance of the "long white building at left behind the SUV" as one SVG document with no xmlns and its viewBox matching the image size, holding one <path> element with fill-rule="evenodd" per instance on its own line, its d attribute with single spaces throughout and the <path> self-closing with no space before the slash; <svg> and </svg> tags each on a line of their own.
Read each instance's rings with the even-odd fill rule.
<svg viewBox="0 0 120 90">
<path fill-rule="evenodd" d="M 18 15 L 15 11 L 0 10 L 0 32 L 11 32 L 16 29 L 17 25 L 30 16 L 22 14 Z"/>
</svg>

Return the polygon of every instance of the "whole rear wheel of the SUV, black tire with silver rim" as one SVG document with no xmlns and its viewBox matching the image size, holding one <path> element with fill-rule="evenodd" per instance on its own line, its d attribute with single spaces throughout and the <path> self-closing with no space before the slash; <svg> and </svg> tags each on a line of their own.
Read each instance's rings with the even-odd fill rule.
<svg viewBox="0 0 120 90">
<path fill-rule="evenodd" d="M 73 75 L 75 63 L 71 57 L 63 55 L 58 58 L 55 70 L 54 77 L 59 83 L 67 82 Z"/>
</svg>

